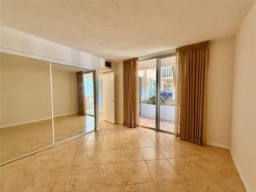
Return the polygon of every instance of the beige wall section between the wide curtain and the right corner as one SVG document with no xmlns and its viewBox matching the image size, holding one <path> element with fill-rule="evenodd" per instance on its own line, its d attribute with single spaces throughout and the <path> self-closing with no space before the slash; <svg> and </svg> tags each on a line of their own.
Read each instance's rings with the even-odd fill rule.
<svg viewBox="0 0 256 192">
<path fill-rule="evenodd" d="M 230 148 L 235 38 L 211 40 L 206 143 Z"/>
</svg>

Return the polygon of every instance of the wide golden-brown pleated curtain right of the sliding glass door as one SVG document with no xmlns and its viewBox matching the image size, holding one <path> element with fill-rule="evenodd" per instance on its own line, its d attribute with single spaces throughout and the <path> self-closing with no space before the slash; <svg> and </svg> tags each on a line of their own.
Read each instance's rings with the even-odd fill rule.
<svg viewBox="0 0 256 192">
<path fill-rule="evenodd" d="M 206 145 L 208 41 L 176 49 L 174 136 Z"/>
</svg>

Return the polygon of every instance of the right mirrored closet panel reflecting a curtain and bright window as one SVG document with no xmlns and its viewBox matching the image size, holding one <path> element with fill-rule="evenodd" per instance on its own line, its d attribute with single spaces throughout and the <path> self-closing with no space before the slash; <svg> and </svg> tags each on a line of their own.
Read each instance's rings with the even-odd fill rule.
<svg viewBox="0 0 256 192">
<path fill-rule="evenodd" d="M 94 116 L 86 115 L 94 115 L 93 72 L 56 63 L 51 67 L 54 142 L 93 131 Z"/>
</svg>

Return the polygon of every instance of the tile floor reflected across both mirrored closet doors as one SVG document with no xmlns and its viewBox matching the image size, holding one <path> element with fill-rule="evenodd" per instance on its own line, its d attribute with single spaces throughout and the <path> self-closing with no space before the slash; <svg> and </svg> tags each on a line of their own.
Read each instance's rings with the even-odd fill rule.
<svg viewBox="0 0 256 192">
<path fill-rule="evenodd" d="M 54 117 L 54 141 L 94 130 L 94 117 L 78 114 Z M 26 123 L 0 129 L 0 162 L 52 145 L 52 120 Z"/>
</svg>

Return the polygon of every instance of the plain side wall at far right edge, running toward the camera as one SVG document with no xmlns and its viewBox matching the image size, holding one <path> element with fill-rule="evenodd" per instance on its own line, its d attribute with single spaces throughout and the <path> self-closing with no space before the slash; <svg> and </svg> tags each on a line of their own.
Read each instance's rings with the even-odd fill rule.
<svg viewBox="0 0 256 192">
<path fill-rule="evenodd" d="M 231 154 L 246 191 L 256 191 L 256 3 L 236 34 Z"/>
</svg>

